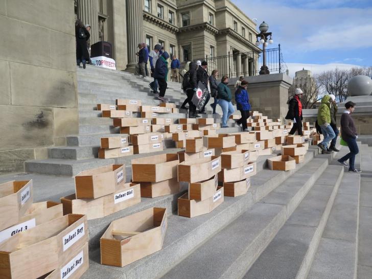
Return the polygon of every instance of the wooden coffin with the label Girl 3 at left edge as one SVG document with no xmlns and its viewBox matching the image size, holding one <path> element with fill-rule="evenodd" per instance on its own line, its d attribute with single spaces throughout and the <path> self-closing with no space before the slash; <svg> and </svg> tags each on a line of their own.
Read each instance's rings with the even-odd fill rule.
<svg viewBox="0 0 372 279">
<path fill-rule="evenodd" d="M 0 231 L 0 243 L 22 231 L 63 216 L 62 204 L 54 201 L 33 203 L 18 223 Z"/>
</svg>

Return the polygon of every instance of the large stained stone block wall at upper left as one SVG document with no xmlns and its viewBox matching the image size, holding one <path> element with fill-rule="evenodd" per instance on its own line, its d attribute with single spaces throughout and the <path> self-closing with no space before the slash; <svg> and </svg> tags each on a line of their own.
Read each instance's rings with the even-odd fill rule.
<svg viewBox="0 0 372 279">
<path fill-rule="evenodd" d="M 2 0 L 0 34 L 4 173 L 78 132 L 74 1 Z"/>
</svg>

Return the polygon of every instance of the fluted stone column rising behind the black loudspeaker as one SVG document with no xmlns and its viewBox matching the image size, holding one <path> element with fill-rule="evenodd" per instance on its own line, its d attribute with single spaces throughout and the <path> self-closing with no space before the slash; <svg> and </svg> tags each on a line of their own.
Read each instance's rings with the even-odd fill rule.
<svg viewBox="0 0 372 279">
<path fill-rule="evenodd" d="M 78 16 L 90 25 L 90 44 L 98 42 L 98 0 L 78 0 Z"/>
</svg>

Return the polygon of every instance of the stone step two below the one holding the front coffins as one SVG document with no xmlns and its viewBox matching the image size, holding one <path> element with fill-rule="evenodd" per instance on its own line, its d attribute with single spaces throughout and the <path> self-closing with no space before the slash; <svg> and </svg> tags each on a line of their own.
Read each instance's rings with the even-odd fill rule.
<svg viewBox="0 0 372 279">
<path fill-rule="evenodd" d="M 306 278 L 342 175 L 341 166 L 328 166 L 324 170 L 243 278 Z M 286 201 L 280 194 L 283 193 L 271 198 L 268 195 L 262 201 L 283 204 Z M 323 275 L 317 278 L 320 277 Z"/>
</svg>

